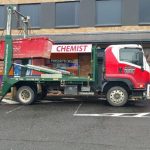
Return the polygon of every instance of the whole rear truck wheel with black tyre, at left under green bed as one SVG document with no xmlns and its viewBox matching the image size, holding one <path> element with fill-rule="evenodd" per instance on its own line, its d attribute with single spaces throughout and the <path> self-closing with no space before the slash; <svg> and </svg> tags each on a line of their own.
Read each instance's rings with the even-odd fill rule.
<svg viewBox="0 0 150 150">
<path fill-rule="evenodd" d="M 24 105 L 30 105 L 35 100 L 35 92 L 29 86 L 22 86 L 18 89 L 16 98 L 17 100 Z"/>
</svg>

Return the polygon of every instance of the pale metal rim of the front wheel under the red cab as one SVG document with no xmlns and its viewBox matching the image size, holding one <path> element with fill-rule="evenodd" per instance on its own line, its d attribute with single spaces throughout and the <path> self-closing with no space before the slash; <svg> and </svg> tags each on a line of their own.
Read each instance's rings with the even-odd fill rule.
<svg viewBox="0 0 150 150">
<path fill-rule="evenodd" d="M 115 104 L 119 104 L 125 100 L 125 95 L 124 95 L 123 91 L 121 91 L 121 90 L 118 90 L 118 89 L 113 90 L 110 93 L 110 100 Z"/>
</svg>

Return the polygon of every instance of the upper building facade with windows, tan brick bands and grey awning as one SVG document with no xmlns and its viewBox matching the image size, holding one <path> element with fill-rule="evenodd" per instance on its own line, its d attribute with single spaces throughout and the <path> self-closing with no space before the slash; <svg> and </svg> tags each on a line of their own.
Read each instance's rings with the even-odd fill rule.
<svg viewBox="0 0 150 150">
<path fill-rule="evenodd" d="M 30 34 L 56 43 L 142 44 L 150 48 L 150 0 L 0 0 L 0 34 L 6 26 L 6 7 L 13 4 L 30 16 Z M 13 17 L 13 34 L 22 24 Z"/>
</svg>

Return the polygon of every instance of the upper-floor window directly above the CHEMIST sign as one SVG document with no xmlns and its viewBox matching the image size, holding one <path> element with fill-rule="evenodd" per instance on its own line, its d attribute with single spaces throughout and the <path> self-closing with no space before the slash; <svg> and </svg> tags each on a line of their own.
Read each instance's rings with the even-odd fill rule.
<svg viewBox="0 0 150 150">
<path fill-rule="evenodd" d="M 79 2 L 56 3 L 56 26 L 79 25 Z"/>
</svg>

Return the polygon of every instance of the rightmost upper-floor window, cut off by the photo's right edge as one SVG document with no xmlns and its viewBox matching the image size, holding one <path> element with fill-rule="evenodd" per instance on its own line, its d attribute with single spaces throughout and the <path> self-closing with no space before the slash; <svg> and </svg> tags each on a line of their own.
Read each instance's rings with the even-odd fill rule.
<svg viewBox="0 0 150 150">
<path fill-rule="evenodd" d="M 140 0 L 140 24 L 150 24 L 150 0 Z"/>
</svg>

